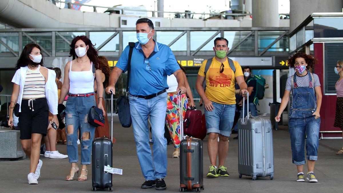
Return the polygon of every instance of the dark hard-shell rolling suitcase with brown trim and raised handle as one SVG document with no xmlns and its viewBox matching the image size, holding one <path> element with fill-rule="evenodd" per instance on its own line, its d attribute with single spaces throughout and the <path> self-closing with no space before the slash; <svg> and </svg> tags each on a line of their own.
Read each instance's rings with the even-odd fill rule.
<svg viewBox="0 0 343 193">
<path fill-rule="evenodd" d="M 181 96 L 181 95 L 180 95 Z M 184 120 L 182 117 L 182 104 L 180 109 L 180 192 L 196 189 L 204 190 L 203 185 L 203 151 L 202 140 L 194 137 L 184 139 Z"/>
</svg>

